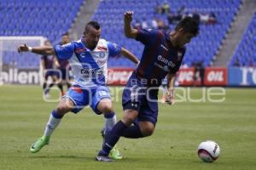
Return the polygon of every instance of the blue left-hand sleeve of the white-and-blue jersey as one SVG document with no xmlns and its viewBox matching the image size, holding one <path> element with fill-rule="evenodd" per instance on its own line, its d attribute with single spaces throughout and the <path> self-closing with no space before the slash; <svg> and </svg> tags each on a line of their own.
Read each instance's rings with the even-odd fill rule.
<svg viewBox="0 0 256 170">
<path fill-rule="evenodd" d="M 55 45 L 55 54 L 58 59 L 70 59 L 74 52 L 73 42 L 69 42 L 64 45 Z"/>
</svg>

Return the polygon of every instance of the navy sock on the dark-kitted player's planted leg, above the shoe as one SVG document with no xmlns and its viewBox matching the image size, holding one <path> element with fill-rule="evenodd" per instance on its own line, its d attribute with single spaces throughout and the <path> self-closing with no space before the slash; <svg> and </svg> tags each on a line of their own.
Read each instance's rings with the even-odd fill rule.
<svg viewBox="0 0 256 170">
<path fill-rule="evenodd" d="M 119 138 L 125 128 L 127 127 L 122 121 L 119 121 L 114 125 L 111 131 L 105 135 L 102 150 L 100 151 L 99 155 L 108 156 L 109 151 L 112 150 L 113 146 L 119 141 Z"/>
</svg>

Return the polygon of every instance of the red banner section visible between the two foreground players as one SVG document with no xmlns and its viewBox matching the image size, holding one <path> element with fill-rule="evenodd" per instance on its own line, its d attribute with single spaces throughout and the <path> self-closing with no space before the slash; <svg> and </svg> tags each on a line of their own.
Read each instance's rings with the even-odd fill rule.
<svg viewBox="0 0 256 170">
<path fill-rule="evenodd" d="M 134 69 L 131 68 L 108 68 L 109 85 L 125 85 Z"/>
</svg>

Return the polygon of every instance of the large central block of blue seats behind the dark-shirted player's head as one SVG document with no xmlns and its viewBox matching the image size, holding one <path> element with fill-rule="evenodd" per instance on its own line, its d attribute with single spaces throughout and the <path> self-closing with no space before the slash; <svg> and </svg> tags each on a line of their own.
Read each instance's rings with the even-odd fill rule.
<svg viewBox="0 0 256 170">
<path fill-rule="evenodd" d="M 123 14 L 125 10 L 130 9 L 135 13 L 135 20 L 142 21 L 146 19 L 149 25 L 151 20 L 158 18 L 164 20 L 167 24 L 166 15 L 154 14 L 155 7 L 158 4 L 163 4 L 163 2 L 161 0 L 102 0 L 92 19 L 102 24 L 102 37 L 130 49 L 140 58 L 143 52 L 143 45 L 134 40 L 127 39 L 123 35 Z M 182 5 L 185 5 L 188 12 L 213 12 L 216 15 L 217 24 L 201 25 L 200 35 L 188 45 L 183 63 L 190 66 L 195 62 L 203 61 L 205 65 L 211 65 L 212 58 L 220 47 L 226 31 L 230 28 L 241 0 L 168 0 L 166 2 L 174 13 Z M 173 29 L 174 25 L 170 25 L 170 28 Z M 120 63 L 121 66 L 134 67 L 131 62 Z M 117 59 L 109 59 L 109 66 L 118 67 L 120 66 L 119 61 Z"/>
</svg>

